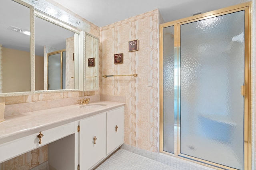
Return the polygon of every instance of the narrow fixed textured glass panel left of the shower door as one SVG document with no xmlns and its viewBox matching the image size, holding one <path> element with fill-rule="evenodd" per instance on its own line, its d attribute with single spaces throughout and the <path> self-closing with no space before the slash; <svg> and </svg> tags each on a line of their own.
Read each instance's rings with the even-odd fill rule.
<svg viewBox="0 0 256 170">
<path fill-rule="evenodd" d="M 163 34 L 163 150 L 174 153 L 174 26 Z"/>
</svg>

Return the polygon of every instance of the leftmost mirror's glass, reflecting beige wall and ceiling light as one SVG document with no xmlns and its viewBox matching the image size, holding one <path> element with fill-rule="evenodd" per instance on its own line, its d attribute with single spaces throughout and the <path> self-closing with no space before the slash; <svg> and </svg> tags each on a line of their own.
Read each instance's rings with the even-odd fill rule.
<svg viewBox="0 0 256 170">
<path fill-rule="evenodd" d="M 0 1 L 0 93 L 31 91 L 30 8 Z"/>
</svg>

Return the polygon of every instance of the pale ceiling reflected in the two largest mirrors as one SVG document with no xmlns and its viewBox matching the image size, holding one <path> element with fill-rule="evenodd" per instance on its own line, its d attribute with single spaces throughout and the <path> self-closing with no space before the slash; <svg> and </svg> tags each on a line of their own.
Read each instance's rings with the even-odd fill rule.
<svg viewBox="0 0 256 170">
<path fill-rule="evenodd" d="M 30 31 L 30 9 L 12 0 L 0 0 L 0 44 L 3 47 L 30 51 L 30 36 L 14 32 L 10 26 Z M 35 17 L 35 55 L 44 56 L 44 46 L 64 49 L 66 38 L 74 32 Z"/>
</svg>

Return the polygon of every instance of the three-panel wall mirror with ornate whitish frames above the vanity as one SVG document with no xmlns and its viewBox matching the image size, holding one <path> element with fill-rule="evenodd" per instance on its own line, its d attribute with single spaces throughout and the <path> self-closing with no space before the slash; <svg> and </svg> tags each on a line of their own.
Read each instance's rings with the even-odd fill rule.
<svg viewBox="0 0 256 170">
<path fill-rule="evenodd" d="M 98 38 L 74 26 L 88 24 L 37 10 L 44 0 L 23 1 L 0 1 L 0 96 L 98 89 Z"/>
</svg>

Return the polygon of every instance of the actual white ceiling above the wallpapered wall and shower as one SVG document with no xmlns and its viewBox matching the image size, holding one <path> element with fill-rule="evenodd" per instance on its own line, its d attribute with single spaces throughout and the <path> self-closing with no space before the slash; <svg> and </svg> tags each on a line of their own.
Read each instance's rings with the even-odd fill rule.
<svg viewBox="0 0 256 170">
<path fill-rule="evenodd" d="M 159 9 L 165 22 L 239 4 L 241 0 L 52 0 L 102 27 Z"/>
</svg>

